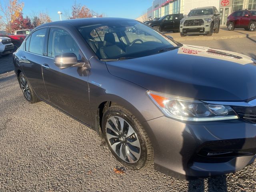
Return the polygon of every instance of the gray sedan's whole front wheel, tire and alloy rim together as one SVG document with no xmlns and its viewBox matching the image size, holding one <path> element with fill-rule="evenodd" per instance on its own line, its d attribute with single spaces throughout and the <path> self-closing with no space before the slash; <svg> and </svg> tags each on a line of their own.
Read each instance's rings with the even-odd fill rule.
<svg viewBox="0 0 256 192">
<path fill-rule="evenodd" d="M 153 162 L 153 147 L 142 124 L 120 105 L 108 108 L 102 132 L 114 157 L 128 168 L 139 170 Z"/>
</svg>

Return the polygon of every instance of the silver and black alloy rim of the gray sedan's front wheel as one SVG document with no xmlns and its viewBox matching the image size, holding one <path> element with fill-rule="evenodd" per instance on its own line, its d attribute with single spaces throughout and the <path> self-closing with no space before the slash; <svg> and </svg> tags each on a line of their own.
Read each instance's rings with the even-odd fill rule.
<svg viewBox="0 0 256 192">
<path fill-rule="evenodd" d="M 140 158 L 140 142 L 132 126 L 119 116 L 108 118 L 106 123 L 108 144 L 123 161 L 133 164 Z"/>
</svg>

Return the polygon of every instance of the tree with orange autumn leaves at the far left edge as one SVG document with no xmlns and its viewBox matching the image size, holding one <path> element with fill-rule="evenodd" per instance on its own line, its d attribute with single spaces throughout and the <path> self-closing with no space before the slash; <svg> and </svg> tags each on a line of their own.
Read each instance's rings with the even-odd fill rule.
<svg viewBox="0 0 256 192">
<path fill-rule="evenodd" d="M 23 7 L 24 3 L 20 0 L 6 0 L 5 6 L 0 5 L 0 27 L 12 33 L 14 31 L 12 27 L 15 26 L 12 23 L 21 20 Z"/>
</svg>

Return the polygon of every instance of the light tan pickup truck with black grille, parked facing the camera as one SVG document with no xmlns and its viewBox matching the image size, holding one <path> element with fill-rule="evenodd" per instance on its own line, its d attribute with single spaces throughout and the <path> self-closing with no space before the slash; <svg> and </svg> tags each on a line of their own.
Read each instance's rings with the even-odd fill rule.
<svg viewBox="0 0 256 192">
<path fill-rule="evenodd" d="M 180 21 L 180 36 L 202 34 L 212 36 L 220 30 L 220 13 L 216 7 L 192 9 L 188 16 Z"/>
</svg>

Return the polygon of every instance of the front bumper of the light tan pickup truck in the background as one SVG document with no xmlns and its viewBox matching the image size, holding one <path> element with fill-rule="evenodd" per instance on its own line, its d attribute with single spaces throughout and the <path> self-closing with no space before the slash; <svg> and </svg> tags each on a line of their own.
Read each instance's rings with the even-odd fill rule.
<svg viewBox="0 0 256 192">
<path fill-rule="evenodd" d="M 208 34 L 210 32 L 210 24 L 204 26 L 183 26 L 180 25 L 181 34 Z"/>
</svg>

